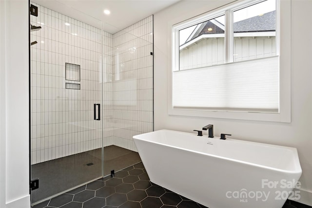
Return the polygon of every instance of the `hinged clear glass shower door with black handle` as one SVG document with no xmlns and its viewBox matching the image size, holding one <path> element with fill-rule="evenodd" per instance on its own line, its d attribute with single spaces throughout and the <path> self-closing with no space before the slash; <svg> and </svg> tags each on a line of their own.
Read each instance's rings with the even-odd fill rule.
<svg viewBox="0 0 312 208">
<path fill-rule="evenodd" d="M 100 21 L 89 25 L 32 4 L 38 7 L 38 17 L 30 18 L 31 42 L 37 42 L 30 59 L 37 204 L 102 177 L 102 29 Z"/>
</svg>

